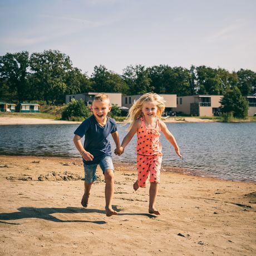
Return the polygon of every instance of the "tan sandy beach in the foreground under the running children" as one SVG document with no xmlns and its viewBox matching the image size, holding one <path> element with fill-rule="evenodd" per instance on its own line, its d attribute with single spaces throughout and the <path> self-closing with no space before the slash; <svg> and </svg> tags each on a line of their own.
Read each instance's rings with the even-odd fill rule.
<svg viewBox="0 0 256 256">
<path fill-rule="evenodd" d="M 255 183 L 163 171 L 156 216 L 134 164 L 115 169 L 107 217 L 100 170 L 80 204 L 81 159 L 0 156 L 0 255 L 255 255 Z"/>
</svg>

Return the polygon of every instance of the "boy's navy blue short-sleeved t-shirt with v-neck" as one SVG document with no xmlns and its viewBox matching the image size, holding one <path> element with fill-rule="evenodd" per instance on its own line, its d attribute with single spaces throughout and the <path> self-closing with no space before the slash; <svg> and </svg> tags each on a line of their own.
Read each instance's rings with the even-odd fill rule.
<svg viewBox="0 0 256 256">
<path fill-rule="evenodd" d="M 108 116 L 104 127 L 99 125 L 94 115 L 83 121 L 74 134 L 80 137 L 85 135 L 83 147 L 93 155 L 92 161 L 83 159 L 83 163 L 86 165 L 98 164 L 103 157 L 110 156 L 111 145 L 109 135 L 115 131 L 117 131 L 116 121 Z"/>
</svg>

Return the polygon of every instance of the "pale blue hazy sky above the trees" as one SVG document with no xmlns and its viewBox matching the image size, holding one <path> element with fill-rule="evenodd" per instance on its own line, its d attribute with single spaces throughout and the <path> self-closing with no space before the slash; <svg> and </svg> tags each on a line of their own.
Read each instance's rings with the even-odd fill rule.
<svg viewBox="0 0 256 256">
<path fill-rule="evenodd" d="M 255 0 L 0 0 L 0 56 L 59 50 L 95 66 L 256 72 Z"/>
</svg>

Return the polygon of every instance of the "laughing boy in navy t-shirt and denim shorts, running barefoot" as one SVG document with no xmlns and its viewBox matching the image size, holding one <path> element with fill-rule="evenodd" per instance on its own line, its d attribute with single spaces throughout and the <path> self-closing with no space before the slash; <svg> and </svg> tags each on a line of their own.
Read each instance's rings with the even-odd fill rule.
<svg viewBox="0 0 256 256">
<path fill-rule="evenodd" d="M 115 144 L 116 152 L 120 152 L 120 141 L 117 132 L 116 121 L 107 116 L 110 112 L 109 96 L 105 93 L 95 95 L 91 111 L 92 116 L 88 117 L 75 130 L 73 142 L 83 158 L 85 168 L 85 193 L 82 196 L 81 204 L 87 207 L 88 198 L 92 183 L 97 179 L 96 168 L 100 164 L 101 170 L 105 176 L 105 200 L 106 215 L 116 215 L 117 212 L 112 209 L 112 198 L 114 196 L 114 166 L 111 158 L 111 145 L 109 135 L 111 134 Z M 82 146 L 81 137 L 85 135 L 85 142 Z"/>
</svg>

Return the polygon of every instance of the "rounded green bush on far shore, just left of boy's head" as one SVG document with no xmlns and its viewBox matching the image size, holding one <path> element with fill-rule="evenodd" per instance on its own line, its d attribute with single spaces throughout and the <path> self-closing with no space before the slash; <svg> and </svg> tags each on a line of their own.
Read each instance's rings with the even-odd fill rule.
<svg viewBox="0 0 256 256">
<path fill-rule="evenodd" d="M 72 99 L 66 109 L 62 112 L 62 120 L 82 121 L 91 115 L 90 109 L 85 106 L 82 99 L 76 101 Z"/>
</svg>

